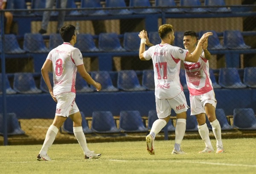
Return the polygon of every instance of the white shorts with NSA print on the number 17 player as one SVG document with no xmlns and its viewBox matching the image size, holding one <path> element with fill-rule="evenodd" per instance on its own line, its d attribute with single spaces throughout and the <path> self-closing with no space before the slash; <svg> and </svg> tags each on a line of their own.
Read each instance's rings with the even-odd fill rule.
<svg viewBox="0 0 256 174">
<path fill-rule="evenodd" d="M 172 99 L 159 99 L 156 98 L 156 108 L 158 118 L 166 118 L 171 115 L 173 109 L 176 114 L 186 112 L 189 108 L 186 103 L 186 97 L 183 91 Z"/>
</svg>

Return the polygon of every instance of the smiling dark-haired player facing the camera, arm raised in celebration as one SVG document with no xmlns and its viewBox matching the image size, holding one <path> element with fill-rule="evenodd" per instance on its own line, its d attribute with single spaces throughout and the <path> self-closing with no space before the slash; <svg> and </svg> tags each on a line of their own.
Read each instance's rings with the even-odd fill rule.
<svg viewBox="0 0 256 174">
<path fill-rule="evenodd" d="M 195 31 L 185 31 L 183 34 L 183 45 L 185 51 L 193 53 L 196 49 Z M 212 81 L 209 77 L 209 59 L 211 53 L 207 50 L 208 41 L 203 44 L 203 51 L 196 63 L 184 61 L 186 71 L 186 83 L 189 90 L 189 99 L 191 115 L 195 115 L 198 121 L 198 132 L 204 140 L 205 149 L 199 153 L 213 152 L 212 144 L 209 138 L 209 129 L 206 124 L 205 114 L 212 126 L 212 132 L 217 140 L 216 153 L 224 152 L 221 140 L 221 126 L 215 115 L 217 101 L 212 87 Z"/>
</svg>

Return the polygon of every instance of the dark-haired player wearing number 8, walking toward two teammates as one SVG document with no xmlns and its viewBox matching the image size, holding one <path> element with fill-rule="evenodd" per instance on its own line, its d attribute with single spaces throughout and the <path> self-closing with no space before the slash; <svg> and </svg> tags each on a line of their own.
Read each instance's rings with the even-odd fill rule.
<svg viewBox="0 0 256 174">
<path fill-rule="evenodd" d="M 74 48 L 76 43 L 76 28 L 73 25 L 64 25 L 60 29 L 64 43 L 49 52 L 41 69 L 42 76 L 49 89 L 52 99 L 57 102 L 55 118 L 49 127 L 44 144 L 37 156 L 37 160 L 50 161 L 47 151 L 52 146 L 67 117 L 73 120 L 73 132 L 84 151 L 85 159 L 96 159 L 101 154 L 96 154 L 87 148 L 86 139 L 81 126 L 81 113 L 76 105 L 76 71 L 81 74 L 85 81 L 93 85 L 97 91 L 101 90 L 101 84 L 94 81 L 84 68 L 83 57 L 79 49 Z M 49 80 L 49 72 L 53 71 L 53 89 Z"/>
</svg>

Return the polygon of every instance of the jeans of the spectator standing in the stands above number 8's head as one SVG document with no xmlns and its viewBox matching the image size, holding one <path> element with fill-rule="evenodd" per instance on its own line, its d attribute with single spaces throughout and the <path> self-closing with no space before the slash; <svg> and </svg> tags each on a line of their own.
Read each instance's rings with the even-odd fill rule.
<svg viewBox="0 0 256 174">
<path fill-rule="evenodd" d="M 46 0 L 45 8 L 53 8 L 55 0 Z M 61 8 L 66 8 L 67 0 L 58 0 L 61 3 Z M 58 30 L 63 26 L 65 20 L 66 11 L 58 11 Z M 47 30 L 47 26 L 50 20 L 51 11 L 44 11 L 41 28 Z"/>
</svg>

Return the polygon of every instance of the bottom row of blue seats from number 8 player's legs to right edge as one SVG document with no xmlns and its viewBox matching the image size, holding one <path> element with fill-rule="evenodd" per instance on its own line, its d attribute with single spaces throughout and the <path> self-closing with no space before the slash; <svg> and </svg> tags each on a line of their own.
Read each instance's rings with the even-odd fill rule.
<svg viewBox="0 0 256 174">
<path fill-rule="evenodd" d="M 113 116 L 110 111 L 94 111 L 91 118 L 83 118 L 84 133 L 120 133 L 120 132 L 148 132 L 154 121 L 157 120 L 156 110 L 149 110 L 148 116 L 142 117 L 137 110 L 121 111 L 119 116 Z M 233 112 L 233 124 L 230 124 L 224 109 L 216 109 L 216 117 L 221 125 L 221 130 L 256 130 L 256 117 L 251 108 L 236 108 Z M 175 117 L 167 124 L 169 132 L 175 131 Z M 91 123 L 88 123 L 88 120 Z M 117 121 L 118 120 L 118 121 Z M 207 126 L 212 130 L 208 119 Z M 90 126 L 89 126 L 90 125 Z M 73 122 L 71 119 L 62 126 L 64 132 L 73 133 Z M 163 132 L 163 129 L 161 130 Z M 187 111 L 186 131 L 198 131 L 198 123 L 194 115 L 190 116 Z"/>
</svg>

